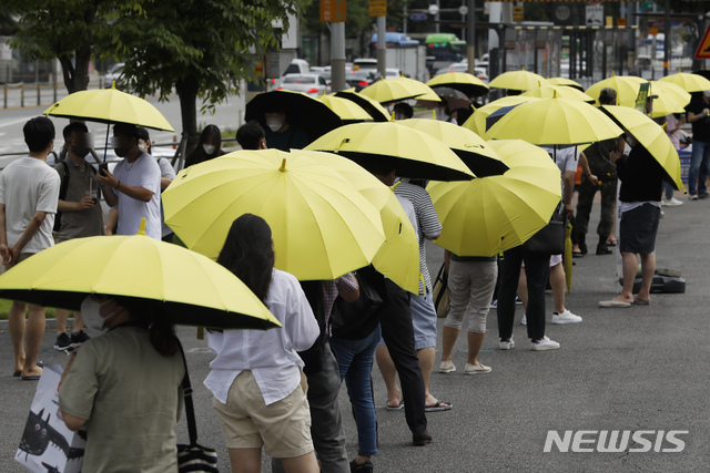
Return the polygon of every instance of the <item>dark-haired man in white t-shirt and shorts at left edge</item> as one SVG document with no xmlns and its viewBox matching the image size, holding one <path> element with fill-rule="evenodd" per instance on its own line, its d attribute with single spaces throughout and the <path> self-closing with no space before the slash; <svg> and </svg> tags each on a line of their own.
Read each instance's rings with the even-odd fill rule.
<svg viewBox="0 0 710 473">
<path fill-rule="evenodd" d="M 27 156 L 0 173 L 0 256 L 6 270 L 54 245 L 52 227 L 59 200 L 59 175 L 47 164 L 54 146 L 54 125 L 45 116 L 31 119 L 22 128 Z M 39 380 L 38 356 L 44 337 L 44 308 L 13 301 L 9 328 L 14 352 L 13 376 Z"/>
</svg>

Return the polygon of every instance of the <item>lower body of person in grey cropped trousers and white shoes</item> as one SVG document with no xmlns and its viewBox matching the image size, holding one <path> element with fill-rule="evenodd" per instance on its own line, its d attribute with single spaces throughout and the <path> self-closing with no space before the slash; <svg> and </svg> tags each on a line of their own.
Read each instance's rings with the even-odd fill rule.
<svg viewBox="0 0 710 473">
<path fill-rule="evenodd" d="M 486 335 L 486 319 L 498 280 L 498 263 L 495 256 L 458 256 L 446 250 L 445 270 L 448 274 L 450 307 L 442 331 L 440 373 L 456 371 L 452 360 L 454 345 L 460 333 L 464 317 L 468 316 L 468 357 L 465 374 L 489 373 L 490 367 L 478 361 L 478 353 Z"/>
</svg>

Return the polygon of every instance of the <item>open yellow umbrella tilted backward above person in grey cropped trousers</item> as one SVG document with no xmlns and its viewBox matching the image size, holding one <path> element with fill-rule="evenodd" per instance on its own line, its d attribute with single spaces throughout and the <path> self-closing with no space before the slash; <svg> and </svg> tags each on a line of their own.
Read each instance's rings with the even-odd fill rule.
<svg viewBox="0 0 710 473">
<path fill-rule="evenodd" d="M 503 175 L 427 187 L 443 226 L 435 244 L 459 256 L 521 245 L 547 225 L 561 199 L 559 168 L 544 150 L 521 140 L 489 144 L 509 167 Z"/>
</svg>

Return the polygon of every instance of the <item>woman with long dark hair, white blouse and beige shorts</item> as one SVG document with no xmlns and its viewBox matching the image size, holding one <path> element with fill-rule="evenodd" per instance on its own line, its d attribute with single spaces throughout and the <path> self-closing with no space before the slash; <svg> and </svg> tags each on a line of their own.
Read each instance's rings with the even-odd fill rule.
<svg viewBox="0 0 710 473">
<path fill-rule="evenodd" d="M 262 471 L 262 446 L 286 472 L 316 473 L 303 360 L 318 337 L 298 280 L 274 268 L 271 228 L 244 214 L 232 224 L 217 263 L 266 305 L 282 328 L 207 333 L 215 359 L 205 387 L 222 424 L 233 472 Z"/>
</svg>

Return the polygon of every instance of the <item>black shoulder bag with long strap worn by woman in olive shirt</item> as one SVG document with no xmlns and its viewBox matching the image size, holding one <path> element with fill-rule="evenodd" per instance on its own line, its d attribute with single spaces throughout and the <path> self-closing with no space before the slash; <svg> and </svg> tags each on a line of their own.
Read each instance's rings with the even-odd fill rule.
<svg viewBox="0 0 710 473">
<path fill-rule="evenodd" d="M 190 374 L 187 373 L 187 360 L 180 340 L 178 340 L 178 347 L 180 348 L 182 360 L 185 364 L 185 376 L 182 379 L 182 390 L 185 399 L 187 432 L 190 434 L 190 444 L 178 444 L 178 471 L 180 473 L 219 473 L 217 452 L 214 449 L 210 449 L 209 446 L 203 446 L 197 443 L 197 423 L 195 422 L 195 408 L 192 403 L 192 388 L 190 385 Z"/>
</svg>

